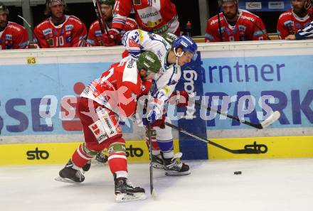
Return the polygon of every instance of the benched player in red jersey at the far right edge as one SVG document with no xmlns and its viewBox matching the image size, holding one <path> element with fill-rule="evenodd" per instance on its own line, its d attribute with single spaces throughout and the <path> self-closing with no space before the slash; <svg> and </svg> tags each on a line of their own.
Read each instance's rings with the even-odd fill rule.
<svg viewBox="0 0 313 211">
<path fill-rule="evenodd" d="M 282 13 L 277 21 L 277 34 L 281 40 L 294 35 L 313 21 L 313 16 L 310 16 L 312 11 L 310 0 L 292 0 L 291 3 L 292 9 Z"/>
</svg>

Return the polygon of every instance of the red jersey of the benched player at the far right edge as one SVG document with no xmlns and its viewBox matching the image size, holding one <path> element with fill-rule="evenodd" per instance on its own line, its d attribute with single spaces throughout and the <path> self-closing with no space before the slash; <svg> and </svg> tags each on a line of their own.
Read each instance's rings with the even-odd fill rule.
<svg viewBox="0 0 313 211">
<path fill-rule="evenodd" d="M 295 34 L 297 31 L 309 26 L 313 21 L 313 17 L 310 17 L 309 14 L 300 18 L 297 16 L 292 9 L 285 11 L 280 15 L 277 21 L 277 33 L 281 40 L 285 40 L 285 37 L 290 34 Z"/>
</svg>

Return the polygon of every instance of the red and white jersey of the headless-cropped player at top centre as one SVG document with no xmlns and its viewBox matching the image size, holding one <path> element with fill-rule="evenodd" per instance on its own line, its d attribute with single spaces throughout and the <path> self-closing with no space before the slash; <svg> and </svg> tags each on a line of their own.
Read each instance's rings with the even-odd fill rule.
<svg viewBox="0 0 313 211">
<path fill-rule="evenodd" d="M 130 11 L 134 9 L 139 28 L 153 33 L 177 33 L 179 18 L 171 0 L 117 0 L 112 28 L 122 30 Z"/>
</svg>

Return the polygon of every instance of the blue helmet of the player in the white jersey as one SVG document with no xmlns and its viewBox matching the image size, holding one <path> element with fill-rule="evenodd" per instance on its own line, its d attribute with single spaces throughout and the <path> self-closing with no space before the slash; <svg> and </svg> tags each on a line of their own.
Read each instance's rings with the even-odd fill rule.
<svg viewBox="0 0 313 211">
<path fill-rule="evenodd" d="M 176 38 L 173 43 L 173 48 L 176 56 L 181 57 L 181 55 L 176 54 L 176 49 L 182 48 L 184 53 L 186 53 L 187 51 L 189 53 L 192 53 L 193 60 L 196 60 L 198 45 L 189 36 L 179 36 L 178 38 Z"/>
</svg>

